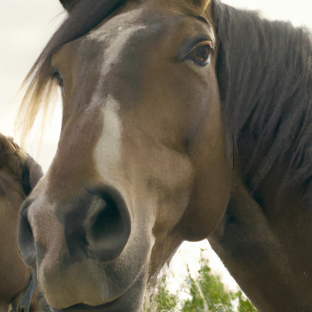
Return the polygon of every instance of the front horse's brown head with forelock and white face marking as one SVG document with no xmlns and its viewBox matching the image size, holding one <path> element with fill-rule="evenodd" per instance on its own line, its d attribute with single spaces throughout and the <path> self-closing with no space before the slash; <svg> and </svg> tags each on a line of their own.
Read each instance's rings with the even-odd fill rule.
<svg viewBox="0 0 312 312">
<path fill-rule="evenodd" d="M 58 83 L 61 135 L 21 208 L 19 248 L 52 310 L 140 311 L 230 196 L 212 2 L 61 2 L 69 16 L 28 91 L 34 105 Z"/>
</svg>

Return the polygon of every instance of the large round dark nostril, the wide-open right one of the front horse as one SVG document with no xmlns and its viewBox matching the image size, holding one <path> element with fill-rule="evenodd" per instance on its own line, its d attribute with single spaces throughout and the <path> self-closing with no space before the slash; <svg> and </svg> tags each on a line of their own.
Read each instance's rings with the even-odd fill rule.
<svg viewBox="0 0 312 312">
<path fill-rule="evenodd" d="M 100 185 L 88 192 L 94 195 L 84 221 L 88 249 L 99 261 L 113 260 L 130 235 L 129 211 L 119 192 L 109 186 Z"/>
</svg>

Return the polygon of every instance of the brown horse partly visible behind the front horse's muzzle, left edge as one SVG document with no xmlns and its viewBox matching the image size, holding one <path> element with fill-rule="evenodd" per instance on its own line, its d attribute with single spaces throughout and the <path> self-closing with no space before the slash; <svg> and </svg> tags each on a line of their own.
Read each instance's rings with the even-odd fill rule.
<svg viewBox="0 0 312 312">
<path fill-rule="evenodd" d="M 32 269 L 17 252 L 19 208 L 42 177 L 41 167 L 0 134 L 0 311 L 22 298 Z M 35 309 L 35 302 L 32 305 Z"/>
</svg>

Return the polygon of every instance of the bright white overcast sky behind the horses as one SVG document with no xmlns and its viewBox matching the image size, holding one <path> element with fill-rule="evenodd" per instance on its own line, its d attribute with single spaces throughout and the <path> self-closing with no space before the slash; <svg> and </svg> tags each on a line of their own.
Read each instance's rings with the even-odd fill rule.
<svg viewBox="0 0 312 312">
<path fill-rule="evenodd" d="M 306 25 L 312 29 L 311 0 L 226 0 L 234 7 L 256 10 L 269 19 L 290 20 L 295 26 Z M 0 132 L 14 135 L 13 124 L 22 95 L 17 90 L 37 56 L 46 45 L 48 39 L 65 17 L 64 10 L 57 0 L 0 0 Z M 38 162 L 44 171 L 49 166 L 55 151 L 60 131 L 61 104 L 58 105 L 41 146 Z M 26 146 L 27 152 L 37 158 L 38 138 L 32 138 Z M 222 268 L 222 263 L 211 251 L 207 241 L 199 243 L 183 243 L 172 260 L 172 278 L 183 281 L 186 272 L 186 261 L 191 271 L 198 270 L 199 248 L 207 248 L 205 256 L 210 259 L 211 266 L 230 288 L 235 282 Z M 172 287 L 176 287 L 172 282 Z"/>
</svg>

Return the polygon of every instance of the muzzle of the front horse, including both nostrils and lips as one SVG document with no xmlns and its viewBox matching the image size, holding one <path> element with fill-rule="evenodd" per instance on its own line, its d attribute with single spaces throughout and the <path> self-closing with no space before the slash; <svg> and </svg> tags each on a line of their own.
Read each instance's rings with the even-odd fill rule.
<svg viewBox="0 0 312 312">
<path fill-rule="evenodd" d="M 18 244 L 27 265 L 37 267 L 38 284 L 51 307 L 110 311 L 124 306 L 130 289 L 138 294 L 136 284 L 144 289 L 150 248 L 142 243 L 147 248 L 139 265 L 129 256 L 135 256 L 137 244 L 128 243 L 130 213 L 115 188 L 96 184 L 67 204 L 41 197 L 22 205 Z"/>
</svg>

